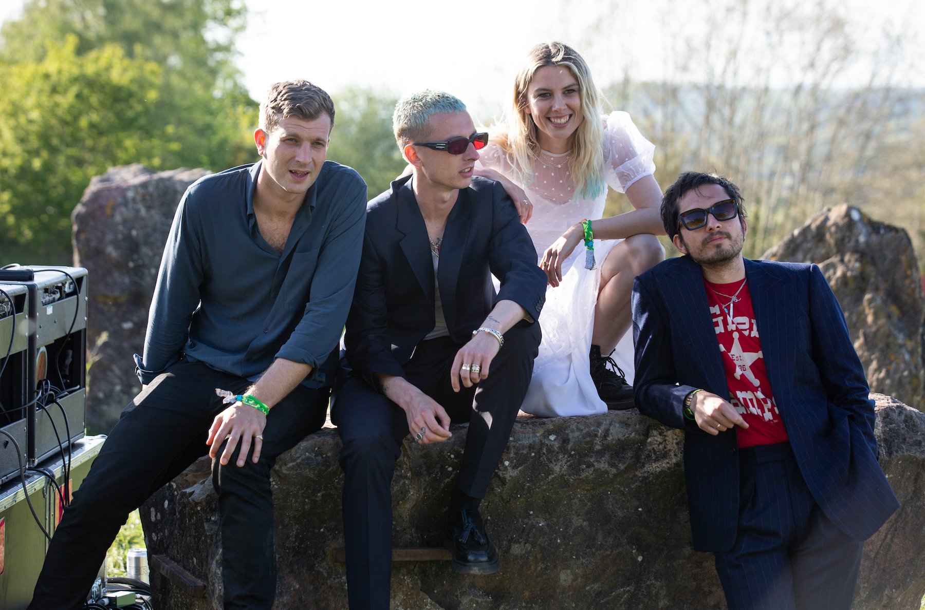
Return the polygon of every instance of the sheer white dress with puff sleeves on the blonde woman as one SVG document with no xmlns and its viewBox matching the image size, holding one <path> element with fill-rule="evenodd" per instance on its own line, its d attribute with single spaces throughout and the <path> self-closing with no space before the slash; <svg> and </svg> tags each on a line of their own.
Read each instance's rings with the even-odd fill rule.
<svg viewBox="0 0 925 610">
<path fill-rule="evenodd" d="M 636 180 L 655 171 L 655 146 L 646 140 L 625 112 L 614 112 L 604 120 L 604 169 L 607 184 L 625 192 Z M 567 153 L 566 153 L 567 154 Z M 514 183 L 517 173 L 498 144 L 479 151 L 483 167 L 493 169 Z M 537 260 L 569 226 L 585 218 L 602 217 L 607 193 L 595 199 L 582 199 L 574 192 L 569 166 L 555 161 L 557 155 L 544 152 L 533 166 L 534 179 L 522 185 L 534 205 L 526 228 L 533 238 Z M 564 158 L 565 155 L 561 155 Z M 553 160 L 552 163 L 546 161 Z M 545 163 L 544 163 L 545 162 Z M 595 239 L 597 268 L 585 269 L 585 246 L 579 244 L 562 264 L 562 281 L 548 287 L 546 305 L 539 317 L 543 341 L 533 369 L 533 381 L 524 398 L 527 413 L 552 416 L 595 415 L 607 410 L 591 381 L 588 352 L 598 298 L 600 263 L 619 243 Z M 627 332 L 613 353 L 614 360 L 633 383 L 633 334 Z"/>
</svg>

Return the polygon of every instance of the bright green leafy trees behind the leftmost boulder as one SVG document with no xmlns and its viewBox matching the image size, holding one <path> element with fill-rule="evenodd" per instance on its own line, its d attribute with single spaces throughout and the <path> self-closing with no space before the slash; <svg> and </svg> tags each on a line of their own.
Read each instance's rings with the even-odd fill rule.
<svg viewBox="0 0 925 610">
<path fill-rule="evenodd" d="M 28 0 L 0 28 L 0 70 L 16 83 L 0 107 L 31 138 L 0 128 L 19 150 L 0 174 L 0 262 L 69 258 L 70 211 L 111 165 L 253 159 L 256 104 L 232 63 L 244 16 L 236 0 Z M 40 171 L 51 157 L 56 171 Z"/>
</svg>

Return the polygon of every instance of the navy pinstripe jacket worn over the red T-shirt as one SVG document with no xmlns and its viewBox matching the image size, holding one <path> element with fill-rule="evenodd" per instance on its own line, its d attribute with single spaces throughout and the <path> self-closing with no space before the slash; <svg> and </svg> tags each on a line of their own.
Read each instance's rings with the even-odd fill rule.
<svg viewBox="0 0 925 610">
<path fill-rule="evenodd" d="M 845 316 L 815 264 L 747 261 L 774 401 L 800 472 L 826 516 L 866 540 L 898 503 L 877 463 L 873 401 Z M 712 436 L 685 420 L 688 392 L 728 397 L 700 267 L 689 256 L 635 280 L 635 400 L 640 411 L 685 430 L 685 476 L 694 548 L 735 540 L 739 459 L 735 431 Z"/>
</svg>

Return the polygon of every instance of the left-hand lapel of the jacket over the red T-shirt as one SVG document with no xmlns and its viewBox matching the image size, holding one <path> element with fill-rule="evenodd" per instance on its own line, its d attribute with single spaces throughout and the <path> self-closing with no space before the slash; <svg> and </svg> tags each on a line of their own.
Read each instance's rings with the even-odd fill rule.
<svg viewBox="0 0 925 610">
<path fill-rule="evenodd" d="M 707 289 L 703 284 L 700 265 L 689 256 L 683 256 L 666 275 L 672 281 L 672 287 L 669 288 L 672 302 L 669 307 L 674 310 L 675 319 L 680 324 L 676 334 L 685 336 L 691 343 L 687 353 L 692 361 L 687 365 L 700 370 L 714 394 L 729 396 L 720 344 L 716 340 L 716 329 L 709 313 Z"/>
</svg>

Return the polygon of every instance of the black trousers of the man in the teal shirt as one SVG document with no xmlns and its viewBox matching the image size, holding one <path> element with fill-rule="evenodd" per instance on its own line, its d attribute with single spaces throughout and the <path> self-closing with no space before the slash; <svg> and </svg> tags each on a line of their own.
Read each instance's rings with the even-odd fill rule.
<svg viewBox="0 0 925 610">
<path fill-rule="evenodd" d="M 65 509 L 29 608 L 83 606 L 129 512 L 208 452 L 209 426 L 228 407 L 216 388 L 240 394 L 250 384 L 203 363 L 182 360 L 135 397 Z M 256 464 L 248 456 L 239 468 L 238 451 L 228 466 L 213 460 L 226 608 L 273 605 L 277 574 L 270 469 L 281 453 L 324 425 L 328 397 L 328 388 L 300 385 L 271 409 Z"/>
</svg>

